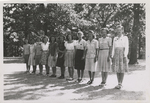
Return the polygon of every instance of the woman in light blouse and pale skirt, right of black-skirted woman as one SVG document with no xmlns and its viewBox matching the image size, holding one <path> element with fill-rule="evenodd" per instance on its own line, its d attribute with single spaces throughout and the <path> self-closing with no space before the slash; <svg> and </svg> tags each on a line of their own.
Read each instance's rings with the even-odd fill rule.
<svg viewBox="0 0 150 103">
<path fill-rule="evenodd" d="M 87 84 L 92 84 L 94 81 L 95 71 L 97 68 L 97 59 L 98 59 L 98 41 L 94 39 L 95 35 L 92 30 L 89 31 L 88 41 L 86 45 L 85 55 L 85 69 L 89 72 L 90 80 Z M 85 57 L 85 56 L 84 56 Z"/>
</svg>

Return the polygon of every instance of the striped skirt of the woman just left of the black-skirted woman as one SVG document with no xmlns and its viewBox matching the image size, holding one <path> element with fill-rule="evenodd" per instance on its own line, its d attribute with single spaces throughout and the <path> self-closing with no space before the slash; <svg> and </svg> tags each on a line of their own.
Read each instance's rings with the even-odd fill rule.
<svg viewBox="0 0 150 103">
<path fill-rule="evenodd" d="M 74 50 L 69 50 L 65 54 L 65 67 L 73 67 L 74 66 Z"/>
</svg>

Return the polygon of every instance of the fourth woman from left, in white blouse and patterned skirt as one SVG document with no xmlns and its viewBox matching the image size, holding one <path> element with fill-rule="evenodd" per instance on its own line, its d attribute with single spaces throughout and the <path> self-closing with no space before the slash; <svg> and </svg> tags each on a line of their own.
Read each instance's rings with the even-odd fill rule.
<svg viewBox="0 0 150 103">
<path fill-rule="evenodd" d="M 43 72 L 43 65 L 46 67 L 46 76 L 49 75 L 49 67 L 48 67 L 48 51 L 49 51 L 49 42 L 48 42 L 48 37 L 43 38 L 43 43 L 41 44 L 42 46 L 42 55 L 41 55 L 41 68 L 40 68 L 40 74 Z"/>
</svg>

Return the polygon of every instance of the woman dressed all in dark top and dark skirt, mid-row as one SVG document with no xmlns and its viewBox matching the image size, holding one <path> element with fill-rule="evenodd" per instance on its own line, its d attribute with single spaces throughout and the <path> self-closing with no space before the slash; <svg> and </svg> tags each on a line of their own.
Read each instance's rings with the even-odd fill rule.
<svg viewBox="0 0 150 103">
<path fill-rule="evenodd" d="M 65 54 L 65 46 L 64 46 L 64 37 L 59 37 L 60 41 L 58 43 L 58 58 L 57 58 L 57 66 L 61 69 L 61 76 L 59 79 L 65 78 L 65 66 L 64 66 L 64 54 Z"/>
</svg>

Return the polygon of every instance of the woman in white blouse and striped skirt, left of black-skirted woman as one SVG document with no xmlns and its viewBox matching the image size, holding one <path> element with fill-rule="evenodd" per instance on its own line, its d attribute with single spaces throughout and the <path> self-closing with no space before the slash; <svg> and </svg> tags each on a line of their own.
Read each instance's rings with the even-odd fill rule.
<svg viewBox="0 0 150 103">
<path fill-rule="evenodd" d="M 68 67 L 68 72 L 70 78 L 68 81 L 74 80 L 74 59 L 75 59 L 75 42 L 72 40 L 72 35 L 68 34 L 66 37 L 67 41 L 65 42 L 66 53 L 65 53 L 65 62 L 64 66 Z"/>
</svg>

